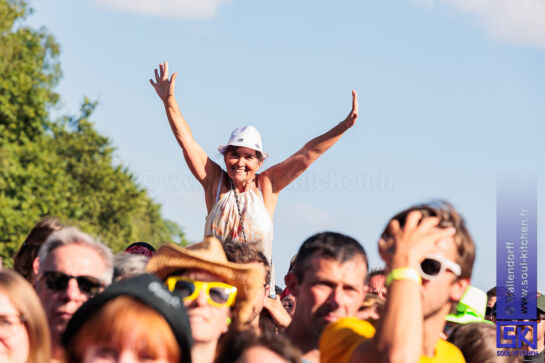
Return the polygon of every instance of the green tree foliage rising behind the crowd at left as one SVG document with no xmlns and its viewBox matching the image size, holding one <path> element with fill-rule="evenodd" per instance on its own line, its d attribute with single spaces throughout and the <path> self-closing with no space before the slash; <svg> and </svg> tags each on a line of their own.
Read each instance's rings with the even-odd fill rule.
<svg viewBox="0 0 545 363">
<path fill-rule="evenodd" d="M 80 114 L 52 121 L 59 101 L 59 46 L 45 29 L 18 24 L 24 0 L 0 0 L 0 257 L 8 265 L 32 226 L 55 215 L 98 236 L 114 251 L 130 242 L 186 243 L 182 229 L 98 133 L 85 99 Z"/>
</svg>

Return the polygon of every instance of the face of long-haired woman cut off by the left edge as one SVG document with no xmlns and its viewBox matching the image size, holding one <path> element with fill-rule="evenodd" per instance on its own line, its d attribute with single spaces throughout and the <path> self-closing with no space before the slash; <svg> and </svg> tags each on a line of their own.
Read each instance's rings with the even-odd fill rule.
<svg viewBox="0 0 545 363">
<path fill-rule="evenodd" d="M 28 353 L 28 332 L 23 317 L 0 290 L 0 362 L 25 363 Z"/>
</svg>

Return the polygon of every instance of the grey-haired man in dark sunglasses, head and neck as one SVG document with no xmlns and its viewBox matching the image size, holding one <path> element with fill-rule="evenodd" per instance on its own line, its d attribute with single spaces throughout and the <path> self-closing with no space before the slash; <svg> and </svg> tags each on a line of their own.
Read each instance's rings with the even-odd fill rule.
<svg viewBox="0 0 545 363">
<path fill-rule="evenodd" d="M 61 336 L 72 315 L 112 281 L 112 253 L 74 227 L 52 233 L 38 253 L 34 287 L 44 306 L 53 360 L 62 357 Z"/>
</svg>

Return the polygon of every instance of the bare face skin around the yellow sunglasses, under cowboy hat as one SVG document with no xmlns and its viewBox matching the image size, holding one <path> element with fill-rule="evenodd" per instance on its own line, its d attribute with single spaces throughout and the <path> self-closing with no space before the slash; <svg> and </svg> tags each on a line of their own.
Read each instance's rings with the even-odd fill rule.
<svg viewBox="0 0 545 363">
<path fill-rule="evenodd" d="M 203 282 L 225 282 L 218 276 L 201 270 L 189 270 L 183 276 Z M 229 328 L 227 320 L 231 317 L 230 308 L 210 306 L 206 291 L 201 291 L 195 300 L 185 301 L 184 304 L 191 324 L 191 334 L 196 343 L 217 341 L 227 332 Z"/>
</svg>

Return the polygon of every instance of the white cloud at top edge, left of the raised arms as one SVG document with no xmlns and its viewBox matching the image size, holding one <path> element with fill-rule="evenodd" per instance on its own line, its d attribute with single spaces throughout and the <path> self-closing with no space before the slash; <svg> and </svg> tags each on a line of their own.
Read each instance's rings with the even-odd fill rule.
<svg viewBox="0 0 545 363">
<path fill-rule="evenodd" d="M 95 0 L 105 7 L 137 14 L 183 19 L 208 19 L 230 0 Z"/>
</svg>

